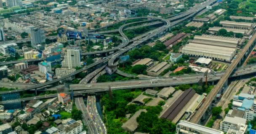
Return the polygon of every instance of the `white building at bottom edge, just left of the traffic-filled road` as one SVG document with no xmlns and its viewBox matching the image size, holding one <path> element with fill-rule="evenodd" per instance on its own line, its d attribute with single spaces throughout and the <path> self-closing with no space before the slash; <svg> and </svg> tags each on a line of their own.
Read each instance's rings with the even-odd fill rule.
<svg viewBox="0 0 256 134">
<path fill-rule="evenodd" d="M 83 123 L 82 121 L 78 120 L 72 124 L 69 124 L 67 127 L 64 128 L 63 133 L 61 134 L 80 134 L 83 131 Z"/>
</svg>

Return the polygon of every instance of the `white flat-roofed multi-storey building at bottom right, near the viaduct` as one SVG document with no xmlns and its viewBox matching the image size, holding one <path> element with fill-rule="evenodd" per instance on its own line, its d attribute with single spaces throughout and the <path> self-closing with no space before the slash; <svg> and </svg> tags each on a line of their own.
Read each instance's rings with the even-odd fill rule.
<svg viewBox="0 0 256 134">
<path fill-rule="evenodd" d="M 221 121 L 219 130 L 227 132 L 230 128 L 238 127 L 240 124 L 246 124 L 246 119 L 240 117 L 228 117 L 226 116 L 223 121 Z"/>
</svg>

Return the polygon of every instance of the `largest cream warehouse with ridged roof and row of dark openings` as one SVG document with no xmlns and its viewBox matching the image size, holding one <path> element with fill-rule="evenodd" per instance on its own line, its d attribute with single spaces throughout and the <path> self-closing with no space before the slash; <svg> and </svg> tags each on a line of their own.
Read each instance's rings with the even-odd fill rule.
<svg viewBox="0 0 256 134">
<path fill-rule="evenodd" d="M 236 54 L 235 48 L 189 43 L 182 48 L 182 54 L 230 62 Z"/>
</svg>

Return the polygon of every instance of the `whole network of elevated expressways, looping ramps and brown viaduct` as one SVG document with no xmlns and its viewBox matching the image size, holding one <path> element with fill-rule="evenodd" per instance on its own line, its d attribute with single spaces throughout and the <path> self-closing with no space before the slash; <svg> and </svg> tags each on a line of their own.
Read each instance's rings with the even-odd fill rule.
<svg viewBox="0 0 256 134">
<path fill-rule="evenodd" d="M 130 28 L 126 28 L 131 24 L 135 23 L 144 23 L 146 21 L 140 21 L 140 22 L 133 22 L 133 23 L 127 23 L 120 28 L 112 31 L 99 31 L 102 28 L 107 28 L 109 26 L 112 26 L 116 23 L 109 24 L 107 26 L 101 27 L 101 28 L 96 28 L 94 30 L 91 30 L 90 32 L 94 33 L 109 33 L 109 32 L 119 32 L 121 36 L 117 36 L 119 39 L 122 40 L 122 44 L 109 50 L 104 50 L 104 51 L 99 51 L 99 52 L 87 52 L 83 53 L 81 55 L 86 56 L 90 54 L 104 54 L 108 52 L 113 52 L 112 54 L 109 54 L 107 57 L 94 62 L 93 64 L 90 64 L 88 66 L 83 67 L 80 70 L 76 70 L 75 72 L 68 74 L 66 76 L 63 76 L 61 78 L 55 79 L 53 81 L 45 82 L 43 84 L 38 84 L 38 85 L 26 85 L 26 84 L 17 84 L 21 86 L 21 89 L 17 90 L 11 90 L 11 91 L 3 91 L 0 92 L 0 94 L 3 93 L 14 93 L 14 92 L 21 92 L 25 90 L 39 90 L 39 89 L 45 89 L 48 88 L 48 85 L 52 85 L 55 82 L 59 82 L 60 80 L 67 79 L 68 77 L 71 77 L 73 75 L 76 75 L 80 72 L 88 71 L 88 69 L 92 67 L 96 67 L 98 65 L 101 65 L 98 69 L 94 70 L 91 72 L 89 75 L 87 75 L 84 79 L 80 81 L 80 84 L 71 84 L 70 89 L 72 89 L 74 94 L 83 94 L 83 93 L 96 93 L 96 92 L 102 92 L 102 91 L 108 91 L 109 86 L 111 87 L 112 90 L 119 90 L 119 89 L 132 89 L 132 88 L 151 88 L 151 87 L 164 87 L 164 86 L 172 86 L 172 85 L 181 85 L 181 84 L 192 84 L 192 83 L 197 83 L 199 82 L 200 79 L 203 78 L 202 75 L 189 75 L 189 76 L 180 76 L 180 77 L 167 77 L 167 78 L 154 78 L 154 79 L 147 79 L 147 80 L 130 80 L 130 81 L 121 81 L 121 82 L 104 82 L 104 83 L 95 83 L 96 79 L 93 77 L 99 77 L 102 72 L 101 70 L 104 69 L 106 64 L 109 66 L 116 66 L 115 64 L 116 60 L 118 57 L 121 55 L 125 54 L 129 50 L 133 49 L 136 46 L 139 46 L 140 44 L 143 44 L 144 42 L 148 41 L 149 39 L 154 38 L 155 36 L 162 35 L 166 33 L 171 27 L 178 25 L 179 23 L 182 23 L 185 20 L 190 20 L 191 18 L 195 17 L 197 13 L 202 13 L 205 12 L 205 7 L 207 5 L 211 5 L 212 3 L 215 3 L 216 0 L 209 0 L 206 1 L 202 4 L 199 4 L 192 9 L 181 13 L 179 15 L 173 15 L 171 18 L 164 19 L 160 17 L 136 17 L 136 18 L 128 18 L 122 21 L 117 21 L 116 23 L 120 23 L 126 20 L 130 19 L 137 19 L 137 18 L 150 18 L 154 20 L 160 20 L 152 23 L 146 23 L 143 24 L 142 26 L 152 26 L 160 23 L 164 23 L 164 26 L 161 26 L 159 28 L 156 28 L 155 30 L 149 31 L 147 33 L 144 33 L 143 35 L 136 37 L 135 39 L 129 40 L 127 36 L 123 33 L 125 29 L 131 29 L 131 28 L 138 28 L 140 26 L 133 26 Z M 143 38 L 142 38 L 143 37 Z M 248 44 L 245 46 L 245 48 L 240 52 L 240 54 L 237 56 L 234 62 L 228 67 L 226 72 L 220 72 L 216 74 L 211 74 L 208 75 L 208 81 L 216 81 L 219 80 L 218 84 L 216 87 L 211 90 L 209 93 L 208 97 L 206 98 L 205 103 L 198 109 L 198 112 L 195 113 L 193 118 L 191 119 L 191 122 L 193 123 L 198 123 L 200 121 L 200 118 L 202 117 L 203 113 L 207 110 L 208 106 L 211 104 L 211 101 L 213 98 L 215 98 L 216 94 L 219 92 L 219 89 L 224 85 L 224 83 L 227 81 L 228 77 L 234 77 L 234 76 L 241 76 L 241 75 L 246 75 L 246 74 L 251 74 L 256 72 L 256 65 L 252 65 L 251 67 L 246 67 L 246 68 L 240 68 L 237 69 L 235 73 L 232 74 L 233 70 L 237 67 L 237 64 L 240 62 L 242 57 L 245 55 L 245 52 L 248 51 L 251 45 L 254 44 L 254 40 L 256 39 L 256 34 L 253 36 L 253 38 L 248 42 Z M 13 61 L 13 62 L 0 62 L 0 65 L 3 64 L 15 64 L 19 62 L 37 62 L 37 61 L 42 61 L 44 59 L 32 59 L 32 60 L 24 60 L 24 61 Z M 118 73 L 123 73 L 123 72 L 118 72 Z M 126 75 L 126 74 L 123 74 Z M 93 80 L 92 80 L 93 79 Z M 91 83 L 87 84 L 91 80 Z M 204 78 L 203 78 L 204 81 Z M 6 83 L 5 83 L 6 84 Z M 8 84 L 7 84 L 8 85 Z M 16 85 L 16 86 L 17 86 Z M 10 85 L 11 86 L 11 85 Z M 61 86 L 61 85 L 59 85 Z M 55 90 L 55 88 L 52 89 L 46 89 L 46 90 Z M 42 95 L 42 96 L 35 96 L 35 97 L 30 97 L 30 98 L 21 98 L 21 101 L 28 101 L 28 100 L 33 100 L 33 99 L 43 99 L 43 98 L 53 98 L 56 97 L 56 94 L 51 94 L 51 95 Z M 3 102 L 1 102 L 3 103 Z M 75 104 L 78 109 L 80 109 L 83 112 L 83 119 L 85 124 L 88 125 L 88 133 L 89 134 L 97 134 L 97 133 L 102 133 L 102 134 L 107 134 L 107 129 L 104 126 L 103 121 L 99 117 L 98 111 L 96 109 L 96 100 L 95 96 L 90 96 L 88 97 L 87 100 L 87 107 L 85 106 L 85 103 L 83 101 L 83 98 L 75 98 Z"/>
</svg>

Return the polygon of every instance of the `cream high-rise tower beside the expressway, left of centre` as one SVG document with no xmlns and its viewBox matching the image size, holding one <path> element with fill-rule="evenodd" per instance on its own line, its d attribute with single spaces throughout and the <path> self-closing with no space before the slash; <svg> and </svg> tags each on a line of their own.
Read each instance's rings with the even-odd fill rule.
<svg viewBox="0 0 256 134">
<path fill-rule="evenodd" d="M 78 46 L 68 46 L 67 54 L 64 56 L 62 61 L 62 67 L 64 68 L 75 68 L 81 67 L 80 64 L 80 49 Z"/>
</svg>

